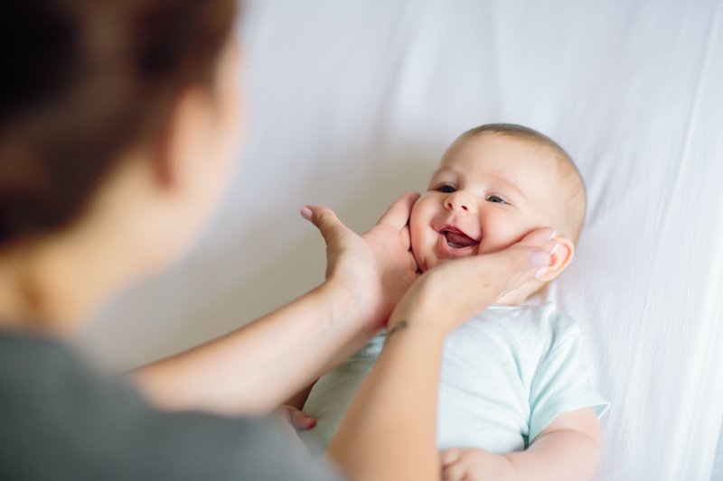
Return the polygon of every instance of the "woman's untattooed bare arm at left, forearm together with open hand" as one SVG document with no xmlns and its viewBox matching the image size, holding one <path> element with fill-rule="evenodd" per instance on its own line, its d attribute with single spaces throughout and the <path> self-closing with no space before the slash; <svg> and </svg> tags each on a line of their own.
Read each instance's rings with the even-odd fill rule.
<svg viewBox="0 0 723 481">
<path fill-rule="evenodd" d="M 328 208 L 302 215 L 326 242 L 327 282 L 251 324 L 136 371 L 170 409 L 268 412 L 361 348 L 417 278 L 407 221 L 416 192 L 397 199 L 364 236 Z"/>
</svg>

